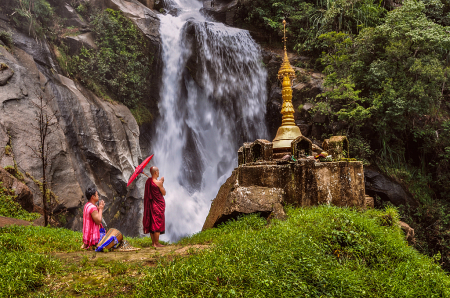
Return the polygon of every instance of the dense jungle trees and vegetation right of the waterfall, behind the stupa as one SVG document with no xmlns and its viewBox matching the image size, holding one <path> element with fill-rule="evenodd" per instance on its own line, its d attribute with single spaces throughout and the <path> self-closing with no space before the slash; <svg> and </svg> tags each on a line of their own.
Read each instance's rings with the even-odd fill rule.
<svg viewBox="0 0 450 298">
<path fill-rule="evenodd" d="M 419 202 L 400 206 L 416 248 L 450 270 L 450 1 L 255 0 L 243 26 L 273 39 L 288 22 L 292 50 L 323 71 L 311 98 L 327 135 L 347 135 L 351 154 L 400 182 Z M 250 25 L 251 24 L 251 25 Z M 343 127 L 332 131 L 333 123 Z M 378 201 L 378 206 L 385 202 Z"/>
</svg>

